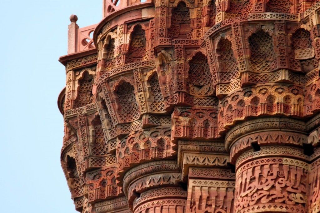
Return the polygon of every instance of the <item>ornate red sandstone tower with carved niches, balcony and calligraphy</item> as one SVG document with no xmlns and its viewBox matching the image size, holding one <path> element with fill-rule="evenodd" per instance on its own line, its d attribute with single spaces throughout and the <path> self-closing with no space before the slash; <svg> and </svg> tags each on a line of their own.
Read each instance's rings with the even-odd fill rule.
<svg viewBox="0 0 320 213">
<path fill-rule="evenodd" d="M 319 1 L 319 0 L 318 0 Z M 320 2 L 70 16 L 61 165 L 82 213 L 320 212 Z"/>
</svg>

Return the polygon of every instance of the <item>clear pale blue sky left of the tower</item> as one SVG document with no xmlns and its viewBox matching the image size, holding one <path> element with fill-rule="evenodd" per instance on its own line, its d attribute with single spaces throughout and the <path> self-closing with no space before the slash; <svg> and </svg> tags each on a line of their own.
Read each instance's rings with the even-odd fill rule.
<svg viewBox="0 0 320 213">
<path fill-rule="evenodd" d="M 0 204 L 2 212 L 75 213 L 60 166 L 70 14 L 85 27 L 102 0 L 0 1 Z"/>
</svg>

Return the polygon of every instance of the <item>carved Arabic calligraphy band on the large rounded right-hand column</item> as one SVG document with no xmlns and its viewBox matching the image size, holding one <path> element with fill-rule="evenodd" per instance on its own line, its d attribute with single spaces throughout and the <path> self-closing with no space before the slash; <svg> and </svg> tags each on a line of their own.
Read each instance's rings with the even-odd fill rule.
<svg viewBox="0 0 320 213">
<path fill-rule="evenodd" d="M 274 157 L 255 161 L 240 166 L 237 171 L 236 212 L 246 212 L 248 208 L 252 211 L 253 207 L 259 210 L 261 204 L 267 203 L 276 206 L 270 212 L 281 208 L 287 212 L 307 212 L 307 163 Z"/>
</svg>

